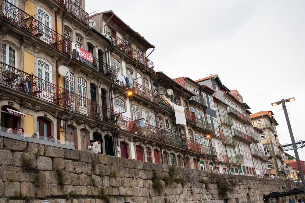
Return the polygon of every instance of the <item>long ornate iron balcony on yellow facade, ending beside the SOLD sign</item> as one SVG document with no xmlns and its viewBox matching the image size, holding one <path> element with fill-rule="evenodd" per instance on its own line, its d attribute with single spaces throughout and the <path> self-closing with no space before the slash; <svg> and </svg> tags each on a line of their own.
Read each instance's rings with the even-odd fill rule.
<svg viewBox="0 0 305 203">
<path fill-rule="evenodd" d="M 30 33 L 35 38 L 49 44 L 50 46 L 69 55 L 71 54 L 72 43 L 59 33 L 45 26 L 34 17 L 5 0 L 0 0 L 0 16 Z"/>
</svg>

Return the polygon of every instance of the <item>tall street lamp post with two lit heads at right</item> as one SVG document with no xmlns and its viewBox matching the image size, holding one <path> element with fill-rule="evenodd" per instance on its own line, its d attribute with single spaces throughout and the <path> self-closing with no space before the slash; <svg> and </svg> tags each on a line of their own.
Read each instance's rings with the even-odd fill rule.
<svg viewBox="0 0 305 203">
<path fill-rule="evenodd" d="M 290 101 L 294 101 L 294 100 L 295 100 L 294 97 L 286 99 L 286 100 L 282 99 L 281 101 L 271 103 L 271 105 L 272 106 L 276 106 L 276 105 L 282 103 L 284 114 L 285 114 L 285 118 L 286 118 L 287 125 L 288 125 L 288 130 L 289 130 L 291 142 L 292 142 L 292 147 L 293 147 L 293 150 L 294 150 L 294 154 L 296 155 L 296 163 L 297 163 L 298 168 L 299 168 L 299 173 L 300 173 L 301 180 L 302 180 L 303 190 L 305 190 L 305 181 L 304 181 L 304 175 L 303 175 L 303 168 L 301 167 L 298 150 L 296 148 L 296 142 L 295 142 L 294 137 L 293 137 L 292 128 L 291 128 L 291 125 L 290 125 L 290 121 L 289 121 L 289 117 L 288 117 L 288 113 L 287 113 L 287 108 L 286 108 L 286 104 L 285 104 L 285 102 L 290 102 Z"/>
</svg>

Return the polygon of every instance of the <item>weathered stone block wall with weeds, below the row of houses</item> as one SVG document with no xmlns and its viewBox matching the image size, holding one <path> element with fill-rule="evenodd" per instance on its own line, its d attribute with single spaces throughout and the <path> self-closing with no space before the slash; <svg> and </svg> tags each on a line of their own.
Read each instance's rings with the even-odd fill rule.
<svg viewBox="0 0 305 203">
<path fill-rule="evenodd" d="M 251 202 L 263 202 L 263 194 L 295 187 L 290 180 L 229 176 L 177 167 L 176 177 L 184 178 L 186 184 L 171 182 L 159 192 L 154 191 L 152 187 L 152 170 L 157 170 L 163 178 L 164 175 L 168 175 L 170 166 L 106 155 L 92 157 L 92 155 L 94 154 L 87 151 L 0 137 L 0 203 L 13 203 L 13 198 L 20 191 L 23 196 L 30 197 L 34 203 L 40 203 L 41 200 L 48 200 L 50 203 L 102 203 L 107 200 L 113 203 L 165 202 L 166 200 L 167 202 L 224 202 L 223 197 L 218 195 L 217 180 L 228 177 L 233 178 L 238 184 L 235 191 L 225 197 L 227 202 L 247 202 L 247 194 Z M 32 166 L 37 169 L 36 173 L 23 170 L 22 156 L 32 160 Z M 56 175 L 58 170 L 63 172 L 65 180 L 63 185 L 59 184 Z M 109 177 L 113 170 L 116 171 L 117 177 Z M 40 182 L 37 179 L 35 181 L 35 177 Z M 210 183 L 208 187 L 201 183 L 203 179 Z M 38 183 L 41 185 L 39 186 Z M 161 183 L 164 185 L 163 181 Z M 102 188 L 111 198 L 95 198 Z M 74 197 L 66 200 L 66 195 L 71 191 L 75 191 Z"/>
</svg>

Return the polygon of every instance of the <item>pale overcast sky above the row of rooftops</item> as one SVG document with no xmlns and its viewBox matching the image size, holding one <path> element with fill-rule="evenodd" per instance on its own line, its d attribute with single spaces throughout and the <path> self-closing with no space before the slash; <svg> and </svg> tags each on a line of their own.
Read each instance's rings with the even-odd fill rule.
<svg viewBox="0 0 305 203">
<path fill-rule="evenodd" d="M 296 141 L 305 140 L 305 1 L 85 0 L 85 5 L 89 14 L 113 10 L 155 45 L 148 57 L 155 71 L 193 80 L 218 74 L 253 114 L 272 110 L 282 145 L 291 143 L 285 115 L 271 103 L 294 97 L 287 103 L 292 131 Z M 305 148 L 298 152 L 305 160 Z M 293 150 L 287 153 L 294 156 Z"/>
</svg>

